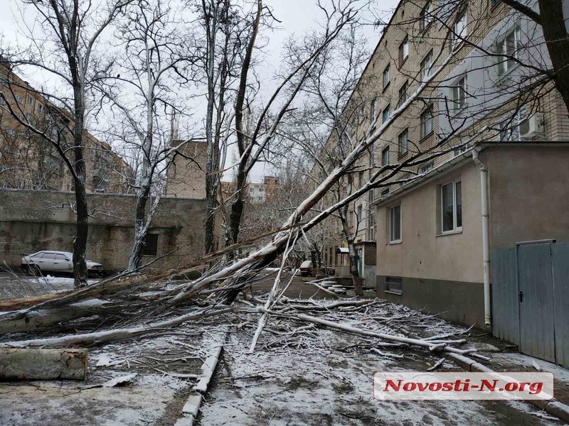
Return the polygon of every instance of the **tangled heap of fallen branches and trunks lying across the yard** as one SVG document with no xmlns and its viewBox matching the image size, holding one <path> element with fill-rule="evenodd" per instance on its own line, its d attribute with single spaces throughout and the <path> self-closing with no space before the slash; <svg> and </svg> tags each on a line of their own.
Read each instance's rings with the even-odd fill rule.
<svg viewBox="0 0 569 426">
<path fill-rule="evenodd" d="M 295 275 L 285 280 L 283 271 L 298 236 L 298 229 L 291 228 L 282 250 L 274 245 L 277 236 L 263 249 L 230 264 L 220 261 L 226 253 L 221 251 L 171 271 L 143 268 L 89 288 L 1 302 L 5 312 L 0 315 L 4 333 L 0 347 L 85 347 L 165 330 L 175 332 L 181 324 L 217 321 L 254 329 L 248 351 L 287 346 L 291 339 L 314 336 L 325 328 L 356 334 L 374 347 L 417 346 L 434 353 L 474 354 L 474 349 L 460 349 L 466 340 L 453 333 L 420 337 L 410 332 L 421 327 L 425 315 L 410 310 L 388 315 L 381 308 L 383 300 L 285 297 Z M 264 267 L 280 251 L 280 268 L 267 275 Z M 213 261 L 218 263 L 211 266 Z M 200 278 L 180 280 L 184 274 L 204 268 L 206 262 L 211 262 L 210 267 Z M 271 290 L 262 297 L 248 297 L 246 290 L 263 280 L 272 281 Z M 282 324 L 287 328 L 282 329 Z M 263 333 L 275 338 L 259 344 Z"/>
</svg>

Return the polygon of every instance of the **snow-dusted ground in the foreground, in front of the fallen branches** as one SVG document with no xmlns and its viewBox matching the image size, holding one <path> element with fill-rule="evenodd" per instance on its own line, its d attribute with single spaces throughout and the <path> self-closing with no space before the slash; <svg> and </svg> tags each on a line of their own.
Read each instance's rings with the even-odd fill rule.
<svg viewBox="0 0 569 426">
<path fill-rule="evenodd" d="M 292 310 L 303 303 L 307 301 L 289 300 Z M 310 315 L 400 336 L 466 331 L 385 302 Z M 4 383 L 0 425 L 174 425 L 194 383 L 184 375 L 199 373 L 203 359 L 220 342 L 225 349 L 198 417 L 202 426 L 563 424 L 523 402 L 377 401 L 373 373 L 425 371 L 440 354 L 382 346 L 377 340 L 275 317 L 270 317 L 256 351 L 250 353 L 257 318 L 228 315 L 223 322 L 203 320 L 137 341 L 90 349 L 90 377 L 85 383 Z M 299 325 L 304 328 L 299 330 Z M 488 342 L 477 332 L 468 339 L 462 349 L 472 344 L 489 351 L 506 346 Z M 509 359 L 514 362 L 515 356 Z M 459 368 L 445 361 L 441 369 Z M 101 387 L 112 378 L 134 373 L 124 386 Z"/>
</svg>

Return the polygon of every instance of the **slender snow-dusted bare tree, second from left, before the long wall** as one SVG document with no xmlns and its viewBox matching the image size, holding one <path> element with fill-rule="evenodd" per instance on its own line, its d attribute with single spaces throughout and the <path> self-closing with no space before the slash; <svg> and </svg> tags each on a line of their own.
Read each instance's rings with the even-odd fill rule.
<svg viewBox="0 0 569 426">
<path fill-rule="evenodd" d="M 186 156 L 182 148 L 188 139 L 180 141 L 174 129 L 177 124 L 172 124 L 181 115 L 177 103 L 182 98 L 176 99 L 176 88 L 188 82 L 184 68 L 191 60 L 188 34 L 181 31 L 185 27 L 179 16 L 180 11 L 169 1 L 133 4 L 117 19 L 118 58 L 97 84 L 118 118 L 107 132 L 124 147 L 137 170 L 129 271 L 142 264 L 147 233 L 164 186 L 160 182 L 174 156 Z"/>
</svg>

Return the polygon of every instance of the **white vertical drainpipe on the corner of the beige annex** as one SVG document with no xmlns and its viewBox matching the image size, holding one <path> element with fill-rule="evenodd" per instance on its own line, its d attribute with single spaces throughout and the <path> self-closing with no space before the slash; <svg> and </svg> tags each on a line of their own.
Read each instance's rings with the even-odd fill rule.
<svg viewBox="0 0 569 426">
<path fill-rule="evenodd" d="M 474 164 L 480 167 L 480 197 L 482 205 L 482 261 L 484 263 L 484 324 L 492 324 L 491 295 L 490 295 L 490 239 L 488 232 L 488 170 L 478 158 L 479 151 L 472 151 Z"/>
</svg>

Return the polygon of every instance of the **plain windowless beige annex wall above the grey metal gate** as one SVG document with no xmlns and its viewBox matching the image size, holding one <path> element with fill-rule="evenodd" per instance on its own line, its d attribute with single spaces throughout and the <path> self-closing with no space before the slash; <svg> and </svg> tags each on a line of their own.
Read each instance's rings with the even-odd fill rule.
<svg viewBox="0 0 569 426">
<path fill-rule="evenodd" d="M 569 146 L 502 146 L 485 162 L 492 247 L 569 241 Z"/>
</svg>

